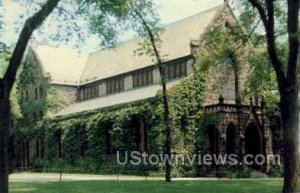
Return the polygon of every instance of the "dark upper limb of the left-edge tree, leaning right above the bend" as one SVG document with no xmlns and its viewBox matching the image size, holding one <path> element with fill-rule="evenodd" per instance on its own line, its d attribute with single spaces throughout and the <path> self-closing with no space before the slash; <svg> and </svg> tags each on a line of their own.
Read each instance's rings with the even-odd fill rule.
<svg viewBox="0 0 300 193">
<path fill-rule="evenodd" d="M 11 88 L 16 79 L 16 73 L 21 65 L 21 61 L 26 50 L 29 39 L 35 29 L 37 29 L 43 21 L 50 15 L 53 9 L 57 6 L 60 0 L 48 0 L 42 8 L 32 17 L 28 18 L 21 31 L 17 45 L 13 51 L 12 57 L 9 61 L 8 68 L 4 74 L 4 81 L 7 86 L 7 94 L 9 95 Z"/>
</svg>

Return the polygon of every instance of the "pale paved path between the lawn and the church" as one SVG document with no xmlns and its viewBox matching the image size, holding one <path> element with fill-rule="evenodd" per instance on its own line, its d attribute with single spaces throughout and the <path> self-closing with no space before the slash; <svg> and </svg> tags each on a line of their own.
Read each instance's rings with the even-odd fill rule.
<svg viewBox="0 0 300 193">
<path fill-rule="evenodd" d="M 272 180 L 282 180 L 280 178 L 271 178 Z M 9 176 L 11 182 L 51 182 L 60 181 L 59 173 L 15 173 Z M 92 180 L 120 180 L 120 181 L 138 181 L 138 180 L 164 180 L 162 177 L 141 177 L 124 175 L 85 175 L 85 174 L 62 174 L 62 181 L 92 181 Z M 174 181 L 195 181 L 195 180 L 230 180 L 227 178 L 173 178 Z M 257 180 L 257 178 L 241 179 Z M 259 178 L 259 180 L 270 180 L 270 178 Z"/>
</svg>

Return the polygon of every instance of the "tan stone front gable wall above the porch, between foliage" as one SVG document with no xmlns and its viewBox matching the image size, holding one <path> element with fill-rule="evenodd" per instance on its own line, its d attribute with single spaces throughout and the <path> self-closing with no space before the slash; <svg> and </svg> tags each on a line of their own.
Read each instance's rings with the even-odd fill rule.
<svg viewBox="0 0 300 193">
<path fill-rule="evenodd" d="M 212 30 L 214 27 L 218 26 L 221 29 L 226 28 L 226 24 L 238 24 L 236 18 L 234 17 L 231 9 L 225 7 L 224 11 L 221 12 L 216 18 L 214 23 L 207 28 L 207 32 Z M 204 46 L 201 46 L 205 43 L 204 38 L 200 40 L 198 54 L 199 57 L 203 57 L 209 54 L 211 51 L 206 50 Z M 240 43 L 232 41 L 232 48 L 236 48 Z M 240 46 L 235 50 L 237 57 L 237 63 L 240 67 L 240 73 L 238 74 L 239 90 L 240 92 L 244 89 L 245 82 L 250 72 L 250 65 L 246 62 L 246 58 L 250 55 L 250 46 L 246 43 L 243 46 Z M 200 59 L 198 58 L 200 61 Z M 224 97 L 224 102 L 226 103 L 235 103 L 235 78 L 233 68 L 230 64 L 212 64 L 212 67 L 208 70 L 207 73 L 207 89 L 205 93 L 205 102 L 204 104 L 215 104 L 218 102 L 220 95 Z"/>
</svg>

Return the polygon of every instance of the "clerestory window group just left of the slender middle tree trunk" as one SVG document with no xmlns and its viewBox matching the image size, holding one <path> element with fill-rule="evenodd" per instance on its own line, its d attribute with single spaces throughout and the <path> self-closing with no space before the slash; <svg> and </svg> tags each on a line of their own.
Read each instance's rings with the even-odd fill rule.
<svg viewBox="0 0 300 193">
<path fill-rule="evenodd" d="M 152 69 L 140 70 L 133 74 L 133 88 L 143 87 L 153 84 Z"/>
</svg>

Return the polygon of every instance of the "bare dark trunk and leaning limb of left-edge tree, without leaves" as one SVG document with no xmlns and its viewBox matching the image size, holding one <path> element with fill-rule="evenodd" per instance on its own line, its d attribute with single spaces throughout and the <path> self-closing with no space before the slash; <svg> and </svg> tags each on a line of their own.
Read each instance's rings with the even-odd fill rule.
<svg viewBox="0 0 300 193">
<path fill-rule="evenodd" d="M 10 128 L 10 94 L 16 80 L 17 70 L 28 44 L 28 41 L 35 29 L 50 15 L 57 6 L 59 0 L 48 0 L 41 9 L 32 17 L 28 18 L 23 26 L 15 49 L 12 53 L 9 65 L 0 79 L 0 192 L 8 193 L 8 135 Z"/>
</svg>

